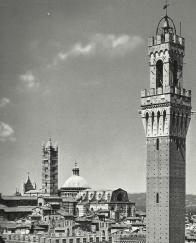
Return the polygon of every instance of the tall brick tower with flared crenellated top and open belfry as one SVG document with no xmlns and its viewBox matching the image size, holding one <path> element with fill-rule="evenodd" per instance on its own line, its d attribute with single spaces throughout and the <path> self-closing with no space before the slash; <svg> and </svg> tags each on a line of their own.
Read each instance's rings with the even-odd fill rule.
<svg viewBox="0 0 196 243">
<path fill-rule="evenodd" d="M 185 242 L 186 134 L 191 91 L 183 88 L 185 40 L 173 20 L 148 39 L 150 89 L 141 92 L 147 143 L 147 243 Z"/>
</svg>

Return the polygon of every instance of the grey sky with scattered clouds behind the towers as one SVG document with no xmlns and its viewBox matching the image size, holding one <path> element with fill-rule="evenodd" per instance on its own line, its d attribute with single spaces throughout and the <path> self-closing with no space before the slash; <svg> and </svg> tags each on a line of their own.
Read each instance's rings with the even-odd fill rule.
<svg viewBox="0 0 196 243">
<path fill-rule="evenodd" d="M 196 1 L 169 0 L 186 39 L 184 88 L 196 109 Z M 59 187 L 77 161 L 92 188 L 146 190 L 138 110 L 149 88 L 147 38 L 164 0 L 0 0 L 0 192 L 30 172 L 41 187 L 41 148 L 59 146 Z M 196 115 L 187 135 L 187 193 L 196 194 Z"/>
</svg>

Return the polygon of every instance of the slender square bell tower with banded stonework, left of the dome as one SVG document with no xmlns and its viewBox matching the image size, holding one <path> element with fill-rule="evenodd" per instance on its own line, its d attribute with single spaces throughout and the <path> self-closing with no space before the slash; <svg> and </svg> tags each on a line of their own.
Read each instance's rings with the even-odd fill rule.
<svg viewBox="0 0 196 243">
<path fill-rule="evenodd" d="M 42 191 L 49 195 L 58 193 L 58 147 L 51 139 L 42 147 Z"/>
</svg>

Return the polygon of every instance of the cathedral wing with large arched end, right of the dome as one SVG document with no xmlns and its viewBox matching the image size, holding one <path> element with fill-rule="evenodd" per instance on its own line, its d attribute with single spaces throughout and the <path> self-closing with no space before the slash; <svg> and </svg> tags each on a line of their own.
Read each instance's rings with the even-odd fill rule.
<svg viewBox="0 0 196 243">
<path fill-rule="evenodd" d="M 87 189 L 78 193 L 77 214 L 82 217 L 88 213 L 104 215 L 116 220 L 135 216 L 135 203 L 129 201 L 128 193 L 117 190 Z"/>
</svg>

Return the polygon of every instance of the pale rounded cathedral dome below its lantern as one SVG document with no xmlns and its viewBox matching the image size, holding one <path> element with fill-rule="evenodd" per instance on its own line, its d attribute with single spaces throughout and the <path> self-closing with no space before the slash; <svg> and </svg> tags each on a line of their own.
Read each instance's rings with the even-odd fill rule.
<svg viewBox="0 0 196 243">
<path fill-rule="evenodd" d="M 87 181 L 79 175 L 70 176 L 65 183 L 63 184 L 63 188 L 89 188 Z"/>
</svg>

